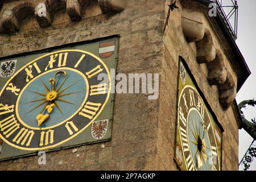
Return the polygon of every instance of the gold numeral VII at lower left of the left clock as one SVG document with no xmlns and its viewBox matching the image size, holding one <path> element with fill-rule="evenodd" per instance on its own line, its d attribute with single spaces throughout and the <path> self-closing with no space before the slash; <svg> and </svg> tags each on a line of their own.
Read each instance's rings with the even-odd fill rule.
<svg viewBox="0 0 256 182">
<path fill-rule="evenodd" d="M 19 133 L 13 139 L 13 142 L 16 144 L 20 144 L 23 146 L 26 143 L 26 146 L 30 146 L 31 140 L 34 136 L 33 130 L 25 129 L 24 127 L 19 131 Z"/>
</svg>

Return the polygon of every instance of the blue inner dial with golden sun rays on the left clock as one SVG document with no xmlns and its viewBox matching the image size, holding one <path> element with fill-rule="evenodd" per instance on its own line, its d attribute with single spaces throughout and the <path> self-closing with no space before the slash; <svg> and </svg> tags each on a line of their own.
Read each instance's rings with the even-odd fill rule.
<svg viewBox="0 0 256 182">
<path fill-rule="evenodd" d="M 55 126 L 70 118 L 85 101 L 86 78 L 75 69 L 53 69 L 34 79 L 22 90 L 17 104 L 19 117 L 28 126 Z M 54 84 L 51 79 L 55 80 Z M 49 116 L 40 125 L 36 119 L 39 114 Z"/>
</svg>

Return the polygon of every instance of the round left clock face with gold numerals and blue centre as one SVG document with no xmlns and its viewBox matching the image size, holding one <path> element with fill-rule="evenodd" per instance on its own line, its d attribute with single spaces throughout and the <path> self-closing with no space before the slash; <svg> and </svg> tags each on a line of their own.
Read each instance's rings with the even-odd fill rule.
<svg viewBox="0 0 256 182">
<path fill-rule="evenodd" d="M 104 79 L 97 79 L 101 74 Z M 0 136 L 22 150 L 44 150 L 79 135 L 110 96 L 110 73 L 90 52 L 65 49 L 19 69 L 0 93 Z"/>
</svg>

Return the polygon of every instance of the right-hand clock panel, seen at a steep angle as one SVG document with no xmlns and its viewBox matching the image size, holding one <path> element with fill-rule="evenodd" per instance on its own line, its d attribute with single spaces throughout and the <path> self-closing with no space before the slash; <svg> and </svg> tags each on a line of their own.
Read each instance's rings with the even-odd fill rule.
<svg viewBox="0 0 256 182">
<path fill-rule="evenodd" d="M 175 161 L 183 170 L 221 169 L 221 130 L 180 62 Z"/>
</svg>

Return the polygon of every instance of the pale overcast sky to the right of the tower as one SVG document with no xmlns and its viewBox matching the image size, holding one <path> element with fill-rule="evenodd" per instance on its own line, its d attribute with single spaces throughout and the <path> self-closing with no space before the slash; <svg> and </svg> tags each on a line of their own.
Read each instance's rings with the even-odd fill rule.
<svg viewBox="0 0 256 182">
<path fill-rule="evenodd" d="M 251 76 L 246 80 L 240 92 L 237 94 L 236 99 L 239 104 L 243 100 L 256 99 L 256 1 L 237 0 L 237 3 L 239 6 L 237 45 L 240 48 L 243 57 L 245 57 L 246 63 L 251 71 Z M 256 117 L 256 108 L 254 107 L 247 107 L 243 112 L 248 120 Z M 243 129 L 239 131 L 239 134 L 239 156 L 241 160 L 247 148 L 253 141 L 253 138 L 251 138 Z M 240 166 L 240 170 L 242 169 L 243 166 Z M 254 162 L 251 164 L 249 170 L 256 170 L 256 158 L 254 158 Z"/>
</svg>

